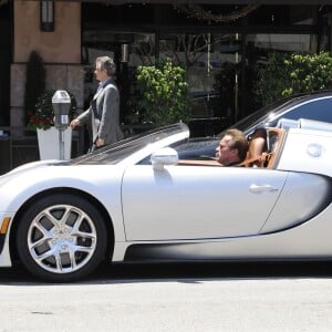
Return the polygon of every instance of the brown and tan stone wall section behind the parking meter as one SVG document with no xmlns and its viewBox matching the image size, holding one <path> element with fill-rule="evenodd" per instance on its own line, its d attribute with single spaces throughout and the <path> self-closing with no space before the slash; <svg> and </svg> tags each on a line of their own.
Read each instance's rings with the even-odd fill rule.
<svg viewBox="0 0 332 332">
<path fill-rule="evenodd" d="M 84 101 L 81 65 L 81 3 L 55 1 L 52 32 L 40 30 L 40 2 L 15 0 L 13 63 L 10 82 L 10 125 L 23 125 L 25 68 L 32 51 L 39 52 L 46 70 L 46 89 L 68 90 Z"/>
</svg>

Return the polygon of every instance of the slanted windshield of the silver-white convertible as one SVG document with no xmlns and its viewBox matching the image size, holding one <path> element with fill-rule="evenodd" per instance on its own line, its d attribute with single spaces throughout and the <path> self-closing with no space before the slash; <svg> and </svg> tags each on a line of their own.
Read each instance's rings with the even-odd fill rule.
<svg viewBox="0 0 332 332">
<path fill-rule="evenodd" d="M 91 154 L 83 155 L 70 162 L 71 165 L 80 164 L 117 164 L 135 152 L 163 138 L 188 131 L 185 124 L 178 123 L 167 127 L 153 129 L 115 144 L 100 148 Z"/>
</svg>

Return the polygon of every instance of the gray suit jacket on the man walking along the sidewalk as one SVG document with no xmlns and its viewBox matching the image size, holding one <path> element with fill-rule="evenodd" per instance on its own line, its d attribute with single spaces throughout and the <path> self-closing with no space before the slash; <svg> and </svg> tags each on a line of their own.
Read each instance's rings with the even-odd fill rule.
<svg viewBox="0 0 332 332">
<path fill-rule="evenodd" d="M 92 143 L 104 138 L 105 145 L 123 138 L 120 127 L 120 94 L 113 80 L 108 80 L 91 101 L 90 107 L 80 116 L 81 124 L 92 125 Z"/>
</svg>

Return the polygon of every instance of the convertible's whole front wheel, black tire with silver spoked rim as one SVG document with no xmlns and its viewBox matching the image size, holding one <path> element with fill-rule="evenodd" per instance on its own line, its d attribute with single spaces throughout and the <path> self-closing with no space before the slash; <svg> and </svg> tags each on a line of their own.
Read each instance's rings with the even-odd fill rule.
<svg viewBox="0 0 332 332">
<path fill-rule="evenodd" d="M 44 280 L 68 282 L 91 273 L 105 257 L 107 232 L 101 212 L 69 194 L 43 197 L 28 208 L 17 232 L 23 266 Z"/>
</svg>

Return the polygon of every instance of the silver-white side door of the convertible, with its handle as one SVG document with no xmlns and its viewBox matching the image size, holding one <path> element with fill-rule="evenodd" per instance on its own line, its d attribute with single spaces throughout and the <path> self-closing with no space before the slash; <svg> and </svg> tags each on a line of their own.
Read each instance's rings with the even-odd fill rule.
<svg viewBox="0 0 332 332">
<path fill-rule="evenodd" d="M 126 239 L 191 240 L 259 234 L 288 173 L 262 168 L 134 165 L 122 185 Z"/>
</svg>

